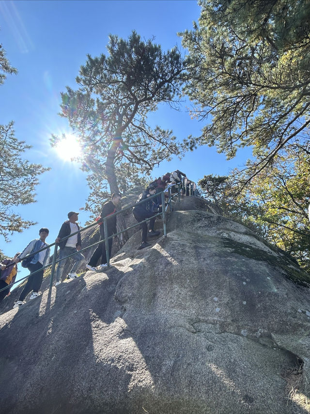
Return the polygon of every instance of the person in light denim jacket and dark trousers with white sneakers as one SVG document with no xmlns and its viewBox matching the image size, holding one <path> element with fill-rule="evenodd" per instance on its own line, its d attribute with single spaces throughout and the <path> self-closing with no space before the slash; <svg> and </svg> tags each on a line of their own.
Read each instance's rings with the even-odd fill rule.
<svg viewBox="0 0 310 414">
<path fill-rule="evenodd" d="M 30 275 L 28 278 L 28 281 L 24 287 L 24 289 L 21 291 L 21 294 L 19 295 L 18 300 L 15 302 L 13 308 L 18 308 L 19 306 L 23 305 L 25 302 L 26 296 L 31 292 L 30 299 L 37 298 L 39 295 L 41 295 L 41 292 L 39 292 L 39 289 L 41 287 L 42 281 L 43 281 L 43 274 L 44 269 L 42 267 L 46 266 L 49 261 L 49 252 L 50 248 L 47 248 L 43 251 L 40 251 L 38 253 L 35 253 L 31 257 L 23 260 L 25 256 L 30 254 L 31 252 L 35 252 L 40 250 L 41 248 L 45 248 L 48 246 L 48 244 L 45 242 L 47 236 L 48 236 L 49 230 L 46 227 L 43 227 L 39 230 L 39 239 L 31 240 L 29 245 L 21 252 L 21 254 L 18 257 L 18 261 L 22 261 L 21 265 L 23 267 L 27 267 L 27 269 L 30 271 Z M 42 269 L 42 270 L 40 270 Z M 40 270 L 34 275 L 36 270 Z"/>
</svg>

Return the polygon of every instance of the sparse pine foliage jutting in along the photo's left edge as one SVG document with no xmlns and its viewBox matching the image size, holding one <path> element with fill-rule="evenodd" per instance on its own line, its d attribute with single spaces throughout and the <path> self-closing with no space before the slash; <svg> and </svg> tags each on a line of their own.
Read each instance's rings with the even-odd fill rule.
<svg viewBox="0 0 310 414">
<path fill-rule="evenodd" d="M 0 49 L 0 84 L 6 75 L 17 73 Z M 14 122 L 0 125 L 0 234 L 8 241 L 9 234 L 22 232 L 35 222 L 25 220 L 15 213 L 14 206 L 30 204 L 35 201 L 35 186 L 38 176 L 48 168 L 40 164 L 31 164 L 23 158 L 23 153 L 30 149 L 25 141 L 15 137 Z"/>
</svg>

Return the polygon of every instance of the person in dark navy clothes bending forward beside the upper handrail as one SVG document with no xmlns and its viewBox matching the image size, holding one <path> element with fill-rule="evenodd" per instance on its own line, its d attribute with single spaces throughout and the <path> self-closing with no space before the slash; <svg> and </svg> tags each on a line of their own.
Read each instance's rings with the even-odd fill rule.
<svg viewBox="0 0 310 414">
<path fill-rule="evenodd" d="M 137 203 L 139 201 L 148 199 L 150 196 L 153 196 L 156 193 L 156 188 L 153 185 L 150 185 L 146 191 L 140 194 Z M 156 199 L 154 197 L 153 199 L 150 199 L 148 201 L 145 201 L 144 203 L 138 204 L 132 209 L 132 214 L 134 215 L 135 219 L 140 223 L 140 221 L 145 220 L 146 218 L 152 217 L 156 214 L 156 211 L 154 211 L 157 207 L 156 201 L 153 201 Z M 147 243 L 147 236 L 149 237 L 155 237 L 160 234 L 160 232 L 154 230 L 155 226 L 155 218 L 151 218 L 150 224 L 149 224 L 149 232 L 147 231 L 147 224 L 146 222 L 140 224 L 141 228 L 141 244 L 138 248 L 138 250 L 141 250 L 142 248 L 151 246 L 149 243 Z"/>
</svg>

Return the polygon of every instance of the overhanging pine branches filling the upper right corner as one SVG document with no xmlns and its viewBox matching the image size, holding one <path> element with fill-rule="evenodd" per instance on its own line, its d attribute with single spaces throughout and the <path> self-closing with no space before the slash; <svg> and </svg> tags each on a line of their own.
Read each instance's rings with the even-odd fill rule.
<svg viewBox="0 0 310 414">
<path fill-rule="evenodd" d="M 228 158 L 253 146 L 248 183 L 282 150 L 309 139 L 310 2 L 200 4 L 199 25 L 183 33 L 191 62 L 186 93 L 193 114 L 208 122 L 192 145 L 217 145 Z"/>
</svg>

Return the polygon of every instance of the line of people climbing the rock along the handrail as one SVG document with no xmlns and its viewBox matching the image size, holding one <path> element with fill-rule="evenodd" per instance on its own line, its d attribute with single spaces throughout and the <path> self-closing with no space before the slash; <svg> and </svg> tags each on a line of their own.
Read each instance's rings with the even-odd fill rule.
<svg viewBox="0 0 310 414">
<path fill-rule="evenodd" d="M 167 187 L 168 184 L 179 184 L 182 182 L 182 178 L 186 175 L 179 171 L 173 171 L 172 173 L 167 173 L 162 177 L 157 178 L 155 181 L 151 182 L 149 186 L 143 191 L 139 198 L 137 199 L 136 205 L 133 207 L 132 214 L 134 218 L 140 223 L 141 228 L 141 244 L 138 249 L 146 248 L 150 246 L 147 243 L 148 237 L 155 237 L 160 234 L 159 231 L 155 231 L 155 218 L 158 212 L 161 212 L 161 196 L 152 197 L 156 193 L 160 193 Z M 108 237 L 113 236 L 117 233 L 116 230 L 116 215 L 114 213 L 120 207 L 122 196 L 120 194 L 114 193 L 111 196 L 111 199 L 107 201 L 102 208 L 100 216 L 97 218 L 97 222 L 100 225 L 100 240 L 105 240 L 105 230 L 103 225 L 103 219 L 107 219 L 107 231 Z M 142 202 L 143 200 L 146 200 Z M 147 226 L 147 220 L 149 221 L 149 230 Z M 70 211 L 68 213 L 68 220 L 62 223 L 62 227 L 58 233 L 58 236 L 55 240 L 55 243 L 58 244 L 60 248 L 59 252 L 59 263 L 56 270 L 55 277 L 55 286 L 59 285 L 62 282 L 62 273 L 64 265 L 66 264 L 68 258 L 67 256 L 71 255 L 74 259 L 74 264 L 67 275 L 67 279 L 75 279 L 78 277 L 77 271 L 82 268 L 83 263 L 86 262 L 85 256 L 79 251 L 82 246 L 80 228 L 77 223 L 78 213 Z M 39 230 L 39 239 L 32 240 L 27 247 L 20 253 L 16 253 L 13 259 L 4 259 L 0 263 L 0 302 L 10 294 L 10 288 L 14 284 L 17 275 L 17 264 L 21 262 L 23 267 L 27 267 L 30 271 L 27 283 L 25 284 L 23 290 L 21 291 L 18 300 L 14 304 L 14 308 L 20 307 L 25 303 L 26 296 L 32 291 L 30 299 L 38 297 L 41 292 L 39 292 L 44 275 L 44 268 L 49 263 L 50 248 L 46 243 L 46 238 L 48 236 L 49 230 L 44 227 Z M 72 234 L 72 236 L 70 236 Z M 68 237 L 69 236 L 69 237 Z M 117 237 L 117 236 L 116 236 Z M 108 240 L 109 246 L 109 257 L 111 256 L 112 250 L 112 238 Z M 43 249 L 43 250 L 42 250 Z M 42 250 L 42 251 L 38 251 Z M 36 252 L 31 255 L 32 252 Z M 28 256 L 28 257 L 27 257 Z M 101 263 L 97 266 L 97 263 Z M 96 267 L 97 266 L 97 267 Z M 92 257 L 90 258 L 86 268 L 90 270 L 98 270 L 102 267 L 107 266 L 107 254 L 106 254 L 106 245 L 103 241 L 93 252 Z M 3 289 L 5 288 L 5 289 Z M 3 290 L 1 290 L 3 289 Z"/>
</svg>

